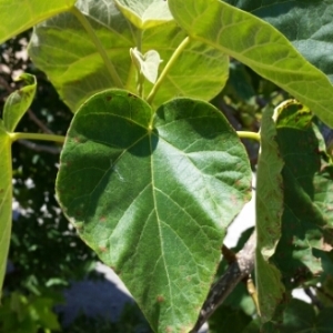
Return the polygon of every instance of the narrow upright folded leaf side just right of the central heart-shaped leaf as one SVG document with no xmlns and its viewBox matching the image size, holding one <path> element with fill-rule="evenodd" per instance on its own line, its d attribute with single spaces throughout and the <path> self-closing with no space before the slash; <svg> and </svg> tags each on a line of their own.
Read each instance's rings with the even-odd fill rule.
<svg viewBox="0 0 333 333">
<path fill-rule="evenodd" d="M 270 263 L 281 236 L 283 191 L 281 171 L 283 160 L 276 143 L 273 110 L 266 108 L 261 124 L 261 153 L 256 174 L 256 251 L 255 279 L 261 319 L 271 320 L 283 300 L 284 286 L 279 270 Z"/>
</svg>

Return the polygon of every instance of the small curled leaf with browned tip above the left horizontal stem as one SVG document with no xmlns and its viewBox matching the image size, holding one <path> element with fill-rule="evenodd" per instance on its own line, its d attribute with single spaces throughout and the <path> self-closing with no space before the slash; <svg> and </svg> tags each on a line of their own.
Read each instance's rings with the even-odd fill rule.
<svg viewBox="0 0 333 333">
<path fill-rule="evenodd" d="M 31 105 L 36 93 L 37 82 L 34 75 L 23 73 L 17 79 L 17 81 L 20 80 L 24 81 L 27 85 L 11 93 L 3 107 L 3 123 L 8 132 L 14 131 Z"/>
</svg>

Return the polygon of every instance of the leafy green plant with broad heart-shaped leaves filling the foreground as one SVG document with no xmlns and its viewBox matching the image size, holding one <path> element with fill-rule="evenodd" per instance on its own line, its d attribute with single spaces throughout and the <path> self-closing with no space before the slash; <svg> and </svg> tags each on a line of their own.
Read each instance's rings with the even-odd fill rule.
<svg viewBox="0 0 333 333">
<path fill-rule="evenodd" d="M 332 1 L 29 0 L 18 10 L 0 0 L 0 18 L 2 42 L 34 27 L 29 56 L 74 113 L 65 137 L 16 132 L 37 87 L 28 73 L 7 100 L 1 284 L 11 144 L 49 140 L 63 143 L 56 180 L 63 213 L 154 332 L 196 332 L 241 281 L 255 314 L 235 311 L 239 300 L 218 310 L 211 332 L 231 315 L 238 332 L 329 332 L 333 165 L 317 123 L 333 125 Z M 236 132 L 209 103 L 231 58 L 295 99 L 266 107 L 259 133 Z M 223 239 L 252 192 L 240 138 L 261 148 L 255 232 L 235 255 Z M 213 284 L 221 249 L 230 264 Z M 296 286 L 315 286 L 326 307 L 294 300 Z"/>
</svg>

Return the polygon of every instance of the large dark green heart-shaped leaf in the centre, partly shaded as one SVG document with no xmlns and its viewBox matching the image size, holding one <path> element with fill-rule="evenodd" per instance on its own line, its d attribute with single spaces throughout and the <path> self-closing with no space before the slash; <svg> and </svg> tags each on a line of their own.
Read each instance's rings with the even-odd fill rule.
<svg viewBox="0 0 333 333">
<path fill-rule="evenodd" d="M 109 90 L 73 118 L 57 195 L 153 330 L 182 332 L 196 321 L 226 225 L 251 196 L 251 169 L 212 105 L 175 99 L 153 113 L 140 98 Z"/>
</svg>

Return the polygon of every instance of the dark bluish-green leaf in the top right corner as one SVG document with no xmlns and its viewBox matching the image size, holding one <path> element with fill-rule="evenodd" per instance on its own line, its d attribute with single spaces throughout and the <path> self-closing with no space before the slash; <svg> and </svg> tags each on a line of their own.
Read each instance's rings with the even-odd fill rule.
<svg viewBox="0 0 333 333">
<path fill-rule="evenodd" d="M 333 1 L 226 0 L 264 19 L 333 81 Z"/>
</svg>

